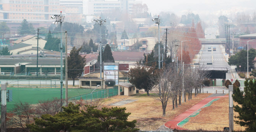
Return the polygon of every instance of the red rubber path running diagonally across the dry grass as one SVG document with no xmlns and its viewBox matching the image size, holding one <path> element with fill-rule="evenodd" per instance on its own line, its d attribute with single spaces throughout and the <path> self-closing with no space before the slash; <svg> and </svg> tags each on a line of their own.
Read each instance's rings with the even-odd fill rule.
<svg viewBox="0 0 256 132">
<path fill-rule="evenodd" d="M 188 118 L 188 116 L 198 111 L 198 109 L 201 109 L 203 106 L 205 106 L 207 103 L 211 102 L 215 98 L 223 98 L 223 97 L 228 97 L 228 96 L 216 96 L 216 97 L 205 98 L 199 103 L 197 103 L 196 105 L 192 106 L 190 109 L 186 110 L 184 113 L 181 113 L 178 116 L 176 116 L 174 119 L 172 119 L 172 121 L 166 122 L 164 126 L 171 129 L 186 130 L 184 128 L 179 127 L 178 123 Z"/>
</svg>

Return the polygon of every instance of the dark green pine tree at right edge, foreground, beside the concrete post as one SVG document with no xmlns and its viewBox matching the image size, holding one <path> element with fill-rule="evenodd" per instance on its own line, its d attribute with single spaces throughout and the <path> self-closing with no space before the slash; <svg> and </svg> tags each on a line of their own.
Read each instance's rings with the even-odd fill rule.
<svg viewBox="0 0 256 132">
<path fill-rule="evenodd" d="M 235 121 L 240 126 L 246 127 L 246 132 L 256 131 L 256 81 L 245 81 L 244 91 L 234 89 L 233 100 L 238 103 L 234 111 L 239 113 Z"/>
</svg>

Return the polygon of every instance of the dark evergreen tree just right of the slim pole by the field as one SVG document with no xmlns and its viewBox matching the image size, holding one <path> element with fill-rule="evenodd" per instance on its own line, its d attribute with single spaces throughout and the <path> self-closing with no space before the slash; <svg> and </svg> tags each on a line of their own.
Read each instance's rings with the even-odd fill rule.
<svg viewBox="0 0 256 132">
<path fill-rule="evenodd" d="M 75 85 L 75 78 L 81 76 L 86 64 L 85 56 L 82 57 L 79 55 L 81 48 L 82 47 L 76 50 L 76 47 L 73 47 L 68 56 L 68 77 L 73 79 L 73 86 Z"/>
</svg>

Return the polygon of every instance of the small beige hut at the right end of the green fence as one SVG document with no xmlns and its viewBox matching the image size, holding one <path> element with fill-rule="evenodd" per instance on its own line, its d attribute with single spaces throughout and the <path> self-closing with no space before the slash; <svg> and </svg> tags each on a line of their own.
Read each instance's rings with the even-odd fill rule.
<svg viewBox="0 0 256 132">
<path fill-rule="evenodd" d="M 129 82 L 123 82 L 118 84 L 118 95 L 134 95 L 136 94 L 136 87 L 133 84 L 130 84 Z"/>
</svg>

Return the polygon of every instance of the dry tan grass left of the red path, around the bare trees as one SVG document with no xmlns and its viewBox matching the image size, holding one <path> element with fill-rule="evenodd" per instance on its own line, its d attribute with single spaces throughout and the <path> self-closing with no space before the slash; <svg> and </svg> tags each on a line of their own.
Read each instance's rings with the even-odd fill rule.
<svg viewBox="0 0 256 132">
<path fill-rule="evenodd" d="M 115 96 L 111 98 L 111 101 L 105 99 L 107 101 L 104 102 L 106 107 L 113 107 L 109 106 L 111 103 L 115 103 L 115 101 L 121 100 L 137 100 L 132 103 L 128 103 L 126 105 L 118 106 L 118 107 L 125 107 L 126 112 L 130 112 L 131 115 L 128 117 L 129 121 L 134 119 L 137 120 L 137 124 L 141 126 L 151 127 L 151 128 L 159 128 L 165 122 L 172 120 L 178 114 L 183 113 L 186 109 L 191 108 L 193 105 L 198 103 L 199 101 L 203 100 L 204 98 L 208 97 L 212 93 L 201 93 L 198 94 L 197 97 L 192 96 L 192 100 L 182 103 L 181 106 L 172 110 L 172 102 L 167 105 L 166 108 L 166 116 L 162 117 L 162 104 L 158 100 L 154 100 L 151 96 L 147 96 L 146 93 L 137 93 L 136 95 L 125 97 L 125 96 Z M 188 97 L 186 95 L 186 97 Z M 121 100 L 120 100 L 121 99 Z"/>
</svg>

